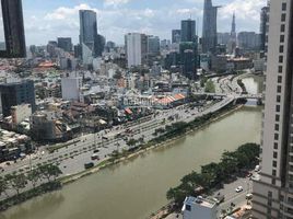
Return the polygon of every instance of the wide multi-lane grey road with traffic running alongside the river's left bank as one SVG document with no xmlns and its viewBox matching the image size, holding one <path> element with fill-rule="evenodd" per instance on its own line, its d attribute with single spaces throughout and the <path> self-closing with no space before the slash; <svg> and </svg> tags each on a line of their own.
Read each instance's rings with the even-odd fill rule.
<svg viewBox="0 0 293 219">
<path fill-rule="evenodd" d="M 149 116 L 146 119 L 142 118 L 138 122 L 132 122 L 131 124 L 120 125 L 112 129 L 102 130 L 97 134 L 82 136 L 69 141 L 69 143 L 71 143 L 70 146 L 58 149 L 54 153 L 49 153 L 45 149 L 42 149 L 36 154 L 33 154 L 31 159 L 26 158 L 23 161 L 17 161 L 17 163 L 11 165 L 2 163 L 1 166 L 4 171 L 1 172 L 0 175 L 3 176 L 13 172 L 27 172 L 31 168 L 35 168 L 37 164 L 46 163 L 58 163 L 63 175 L 74 174 L 83 171 L 84 163 L 86 162 L 98 164 L 107 159 L 113 151 L 129 149 L 126 143 L 129 139 L 143 138 L 144 142 L 148 142 L 157 137 L 153 135 L 157 128 L 165 128 L 167 125 L 176 122 L 189 123 L 196 117 L 216 112 L 233 101 L 234 96 L 230 95 L 213 105 L 208 105 L 202 108 L 195 107 L 194 110 L 187 110 L 185 106 L 178 106 L 176 108 L 162 111 L 155 116 Z M 168 120 L 169 116 L 173 116 L 176 119 Z M 127 132 L 129 127 L 131 127 L 131 134 Z M 121 137 L 115 138 L 117 134 L 120 134 Z M 98 161 L 91 160 L 94 150 L 98 150 Z"/>
</svg>

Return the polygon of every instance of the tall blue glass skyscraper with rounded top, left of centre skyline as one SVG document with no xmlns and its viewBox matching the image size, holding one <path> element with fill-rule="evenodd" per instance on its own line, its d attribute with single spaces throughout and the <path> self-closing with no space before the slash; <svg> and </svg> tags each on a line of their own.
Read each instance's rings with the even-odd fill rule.
<svg viewBox="0 0 293 219">
<path fill-rule="evenodd" d="M 97 35 L 96 12 L 80 10 L 80 45 L 82 48 L 83 64 L 90 64 L 91 56 L 95 51 L 95 38 Z"/>
</svg>

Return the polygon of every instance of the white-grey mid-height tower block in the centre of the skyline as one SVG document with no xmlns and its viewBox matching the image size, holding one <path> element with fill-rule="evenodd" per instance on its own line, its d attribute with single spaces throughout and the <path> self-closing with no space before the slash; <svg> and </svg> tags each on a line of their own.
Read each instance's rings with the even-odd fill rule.
<svg viewBox="0 0 293 219">
<path fill-rule="evenodd" d="M 148 36 L 129 33 L 125 36 L 125 41 L 128 68 L 144 65 L 148 55 Z"/>
</svg>

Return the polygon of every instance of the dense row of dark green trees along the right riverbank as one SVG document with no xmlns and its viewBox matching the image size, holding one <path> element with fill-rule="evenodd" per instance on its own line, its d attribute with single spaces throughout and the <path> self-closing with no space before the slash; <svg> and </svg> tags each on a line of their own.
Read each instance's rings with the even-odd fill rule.
<svg viewBox="0 0 293 219">
<path fill-rule="evenodd" d="M 258 162 L 260 146 L 246 143 L 236 151 L 225 151 L 221 162 L 201 166 L 201 172 L 191 172 L 180 180 L 180 185 L 169 188 L 166 196 L 180 207 L 186 196 L 198 196 L 202 192 L 210 192 L 224 182 L 233 178 L 233 175 L 243 170 L 251 170 Z M 200 189 L 199 189 L 200 188 Z"/>
</svg>

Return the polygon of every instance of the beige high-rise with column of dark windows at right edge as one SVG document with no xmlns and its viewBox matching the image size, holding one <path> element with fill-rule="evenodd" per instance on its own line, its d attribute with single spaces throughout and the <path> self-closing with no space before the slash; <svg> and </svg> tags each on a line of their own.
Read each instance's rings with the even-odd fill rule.
<svg viewBox="0 0 293 219">
<path fill-rule="evenodd" d="M 260 180 L 253 216 L 293 218 L 293 0 L 271 0 Z"/>
</svg>

